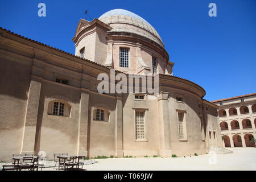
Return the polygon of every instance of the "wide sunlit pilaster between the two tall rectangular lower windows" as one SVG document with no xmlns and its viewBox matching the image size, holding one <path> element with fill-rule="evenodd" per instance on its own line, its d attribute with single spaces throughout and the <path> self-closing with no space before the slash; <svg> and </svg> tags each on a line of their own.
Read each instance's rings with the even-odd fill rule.
<svg viewBox="0 0 256 182">
<path fill-rule="evenodd" d="M 158 96 L 159 155 L 162 157 L 170 157 L 172 155 L 168 108 L 168 92 L 160 92 Z"/>
</svg>

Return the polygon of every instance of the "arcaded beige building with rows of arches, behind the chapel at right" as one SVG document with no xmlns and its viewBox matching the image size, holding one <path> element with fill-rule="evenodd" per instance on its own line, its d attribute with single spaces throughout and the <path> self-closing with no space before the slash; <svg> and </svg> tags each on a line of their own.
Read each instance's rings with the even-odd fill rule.
<svg viewBox="0 0 256 182">
<path fill-rule="evenodd" d="M 253 147 L 256 138 L 256 93 L 212 101 L 219 106 L 223 147 Z"/>
</svg>

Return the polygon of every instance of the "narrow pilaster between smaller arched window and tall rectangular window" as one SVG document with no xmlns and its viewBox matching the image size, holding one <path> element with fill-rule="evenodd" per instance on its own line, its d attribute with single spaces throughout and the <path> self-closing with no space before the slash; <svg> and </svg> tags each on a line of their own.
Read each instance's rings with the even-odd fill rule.
<svg viewBox="0 0 256 182">
<path fill-rule="evenodd" d="M 115 156 L 123 157 L 123 101 L 119 96 L 115 105 Z"/>
</svg>

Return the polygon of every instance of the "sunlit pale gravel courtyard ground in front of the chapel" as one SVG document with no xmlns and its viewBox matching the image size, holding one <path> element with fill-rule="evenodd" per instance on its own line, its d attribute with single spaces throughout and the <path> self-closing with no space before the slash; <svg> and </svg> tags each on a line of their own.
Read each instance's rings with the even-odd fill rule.
<svg viewBox="0 0 256 182">
<path fill-rule="evenodd" d="M 209 164 L 214 155 L 187 156 L 186 158 L 113 158 L 94 159 L 88 171 L 170 171 L 170 170 L 256 170 L 256 148 L 231 148 L 232 154 L 216 154 L 216 164 Z M 210 160 L 214 161 L 214 160 Z M 51 170 L 44 168 L 43 170 Z"/>
</svg>

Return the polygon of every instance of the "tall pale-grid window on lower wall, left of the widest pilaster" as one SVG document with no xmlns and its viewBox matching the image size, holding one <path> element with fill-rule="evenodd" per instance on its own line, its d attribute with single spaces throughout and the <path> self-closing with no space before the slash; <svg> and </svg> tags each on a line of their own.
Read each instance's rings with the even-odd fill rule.
<svg viewBox="0 0 256 182">
<path fill-rule="evenodd" d="M 144 114 L 145 111 L 135 111 L 136 119 L 136 139 L 145 139 L 144 133 Z"/>
</svg>

